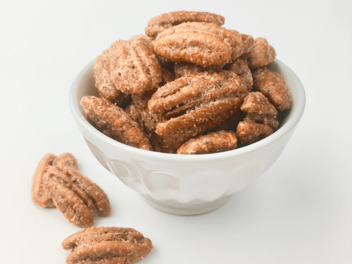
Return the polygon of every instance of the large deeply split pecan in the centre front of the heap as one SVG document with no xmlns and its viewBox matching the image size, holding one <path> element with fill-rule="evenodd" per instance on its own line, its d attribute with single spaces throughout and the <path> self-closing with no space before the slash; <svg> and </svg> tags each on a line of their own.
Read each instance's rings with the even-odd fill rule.
<svg viewBox="0 0 352 264">
<path fill-rule="evenodd" d="M 156 134 L 178 149 L 188 139 L 219 125 L 234 114 L 246 94 L 241 78 L 230 71 L 196 73 L 170 82 L 148 102 L 151 113 L 161 113 L 164 122 Z"/>
</svg>

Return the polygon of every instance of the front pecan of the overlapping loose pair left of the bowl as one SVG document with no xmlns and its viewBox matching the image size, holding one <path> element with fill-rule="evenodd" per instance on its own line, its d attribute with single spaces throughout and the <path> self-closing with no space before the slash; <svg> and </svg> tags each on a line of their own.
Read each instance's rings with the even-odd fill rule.
<svg viewBox="0 0 352 264">
<path fill-rule="evenodd" d="M 98 184 L 66 165 L 53 166 L 44 175 L 44 187 L 68 222 L 79 227 L 94 224 L 94 213 L 111 213 L 110 201 Z"/>
</svg>

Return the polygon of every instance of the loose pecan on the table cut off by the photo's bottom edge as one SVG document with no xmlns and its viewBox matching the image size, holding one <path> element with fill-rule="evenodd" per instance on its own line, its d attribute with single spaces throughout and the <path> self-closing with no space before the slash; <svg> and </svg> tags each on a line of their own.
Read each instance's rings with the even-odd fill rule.
<svg viewBox="0 0 352 264">
<path fill-rule="evenodd" d="M 127 227 L 98 227 L 80 230 L 66 238 L 70 250 L 67 264 L 131 264 L 147 256 L 153 244 L 142 233 Z"/>
</svg>

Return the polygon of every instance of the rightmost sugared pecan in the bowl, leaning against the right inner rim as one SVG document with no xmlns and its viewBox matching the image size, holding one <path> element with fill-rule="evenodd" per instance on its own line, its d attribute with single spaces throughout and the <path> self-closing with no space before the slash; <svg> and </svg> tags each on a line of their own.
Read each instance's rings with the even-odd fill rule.
<svg viewBox="0 0 352 264">
<path fill-rule="evenodd" d="M 254 87 L 267 96 L 279 110 L 289 109 L 291 95 L 284 78 L 268 68 L 256 69 L 253 73 Z"/>
</svg>

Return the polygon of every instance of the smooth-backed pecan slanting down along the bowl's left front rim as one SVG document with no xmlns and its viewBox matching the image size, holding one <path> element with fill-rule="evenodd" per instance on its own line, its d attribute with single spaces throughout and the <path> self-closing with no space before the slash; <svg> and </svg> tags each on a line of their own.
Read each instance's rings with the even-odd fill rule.
<svg viewBox="0 0 352 264">
<path fill-rule="evenodd" d="M 122 108 L 95 96 L 84 96 L 80 103 L 87 120 L 97 130 L 124 144 L 139 149 L 151 149 L 142 128 Z"/>
</svg>

